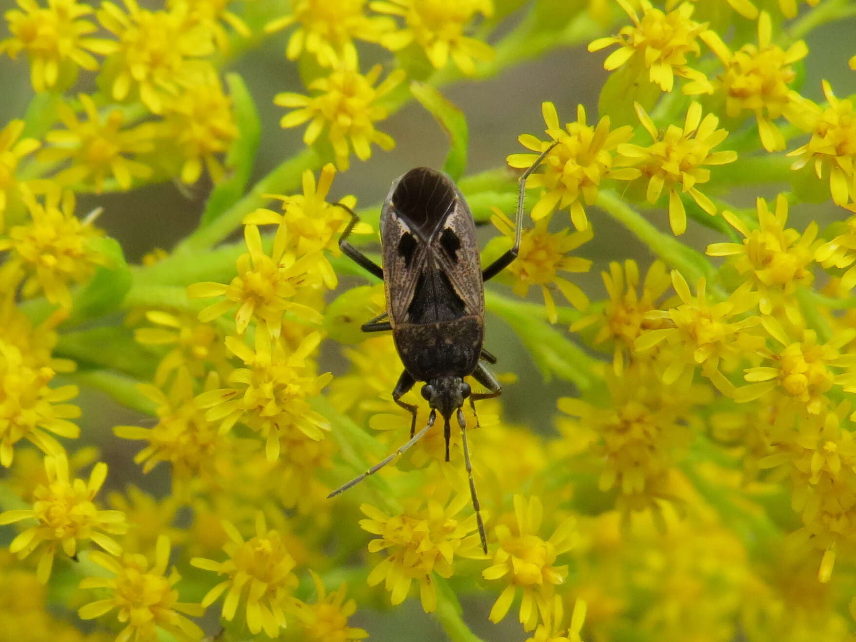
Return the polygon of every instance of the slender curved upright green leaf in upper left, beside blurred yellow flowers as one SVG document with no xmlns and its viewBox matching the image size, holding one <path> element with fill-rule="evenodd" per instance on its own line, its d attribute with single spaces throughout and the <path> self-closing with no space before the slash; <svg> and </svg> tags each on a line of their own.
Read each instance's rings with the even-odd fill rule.
<svg viewBox="0 0 856 642">
<path fill-rule="evenodd" d="M 226 156 L 226 166 L 232 170 L 232 175 L 217 184 L 205 203 L 205 211 L 199 221 L 199 227 L 207 227 L 211 221 L 220 217 L 229 207 L 235 205 L 244 194 L 247 181 L 253 172 L 253 162 L 259 149 L 261 139 L 261 123 L 259 111 L 253 102 L 244 80 L 239 74 L 228 74 L 229 94 L 235 104 L 235 122 L 238 126 L 238 137 L 232 143 Z"/>
</svg>

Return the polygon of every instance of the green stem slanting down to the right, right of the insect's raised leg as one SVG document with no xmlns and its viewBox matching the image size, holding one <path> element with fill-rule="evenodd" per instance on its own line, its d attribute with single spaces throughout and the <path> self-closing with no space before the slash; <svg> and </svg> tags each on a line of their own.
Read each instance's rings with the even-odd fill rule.
<svg viewBox="0 0 856 642">
<path fill-rule="evenodd" d="M 690 282 L 698 282 L 702 276 L 707 278 L 708 290 L 721 299 L 727 298 L 721 288 L 713 283 L 715 270 L 703 254 L 677 241 L 674 236 L 664 234 L 655 228 L 648 220 L 622 201 L 617 194 L 601 190 L 597 196 L 597 205 L 609 216 L 624 225 L 651 248 L 651 251 L 663 259 L 667 265 L 672 265 L 687 277 Z"/>
</svg>

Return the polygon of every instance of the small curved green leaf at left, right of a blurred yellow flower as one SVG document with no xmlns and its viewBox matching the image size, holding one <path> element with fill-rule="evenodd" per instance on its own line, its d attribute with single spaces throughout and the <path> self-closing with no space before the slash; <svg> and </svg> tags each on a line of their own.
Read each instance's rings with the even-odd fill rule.
<svg viewBox="0 0 856 642">
<path fill-rule="evenodd" d="M 125 255 L 119 242 L 109 236 L 89 242 L 90 248 L 107 256 L 110 263 L 99 266 L 92 281 L 74 293 L 68 324 L 116 312 L 131 288 L 131 270 L 125 263 Z"/>
</svg>

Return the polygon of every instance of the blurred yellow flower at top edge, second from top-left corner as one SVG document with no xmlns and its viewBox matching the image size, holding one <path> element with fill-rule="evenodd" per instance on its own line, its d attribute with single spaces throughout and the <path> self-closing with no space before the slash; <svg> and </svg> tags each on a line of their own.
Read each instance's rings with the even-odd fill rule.
<svg viewBox="0 0 856 642">
<path fill-rule="evenodd" d="M 174 96 L 206 68 L 199 59 L 214 52 L 211 31 L 188 26 L 187 3 L 169 11 L 148 11 L 140 9 L 137 0 L 123 2 L 128 13 L 110 2 L 98 9 L 98 21 L 119 39 L 116 53 L 104 65 L 104 80 L 114 100 L 139 96 L 152 113 L 160 114 L 164 98 Z"/>
</svg>

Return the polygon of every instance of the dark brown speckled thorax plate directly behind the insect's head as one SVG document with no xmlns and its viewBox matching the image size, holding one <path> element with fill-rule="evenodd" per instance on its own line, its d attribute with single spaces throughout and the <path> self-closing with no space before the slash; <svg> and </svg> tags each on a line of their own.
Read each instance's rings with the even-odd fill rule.
<svg viewBox="0 0 856 642">
<path fill-rule="evenodd" d="M 401 363 L 417 381 L 466 377 L 479 363 L 484 325 L 477 317 L 437 324 L 396 324 L 393 337 Z"/>
</svg>

